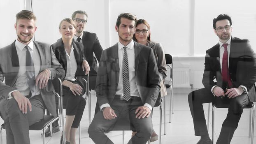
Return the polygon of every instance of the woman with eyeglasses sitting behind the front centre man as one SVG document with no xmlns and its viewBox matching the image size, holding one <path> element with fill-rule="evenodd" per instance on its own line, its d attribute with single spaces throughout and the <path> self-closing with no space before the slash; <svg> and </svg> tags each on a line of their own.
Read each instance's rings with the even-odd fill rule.
<svg viewBox="0 0 256 144">
<path fill-rule="evenodd" d="M 156 58 L 156 63 L 158 66 L 158 72 L 159 72 L 159 77 L 161 79 L 161 91 L 159 95 L 161 97 L 167 95 L 166 88 L 165 88 L 165 83 L 164 79 L 167 76 L 166 75 L 166 62 L 165 62 L 165 53 L 163 51 L 163 47 L 160 43 L 158 42 L 151 42 L 150 39 L 150 26 L 149 23 L 144 20 L 144 19 L 139 19 L 136 24 L 136 30 L 135 30 L 135 35 L 133 35 L 133 40 L 135 42 L 138 42 L 140 44 L 144 44 L 146 46 L 149 46 L 153 49 L 154 51 L 154 56 Z M 160 98 L 158 96 L 158 98 Z M 152 116 L 153 109 L 151 111 L 151 116 Z M 137 132 L 132 133 L 132 136 L 134 136 Z M 154 142 L 158 140 L 158 135 L 156 134 L 155 131 L 153 131 L 153 134 L 151 135 L 150 142 Z"/>
</svg>

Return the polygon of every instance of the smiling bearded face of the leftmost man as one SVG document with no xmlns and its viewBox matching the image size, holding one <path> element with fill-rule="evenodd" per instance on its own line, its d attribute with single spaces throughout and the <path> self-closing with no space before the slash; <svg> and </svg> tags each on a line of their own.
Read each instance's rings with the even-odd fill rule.
<svg viewBox="0 0 256 144">
<path fill-rule="evenodd" d="M 37 30 L 34 19 L 18 19 L 14 28 L 17 33 L 18 41 L 26 45 L 30 43 Z"/>
</svg>

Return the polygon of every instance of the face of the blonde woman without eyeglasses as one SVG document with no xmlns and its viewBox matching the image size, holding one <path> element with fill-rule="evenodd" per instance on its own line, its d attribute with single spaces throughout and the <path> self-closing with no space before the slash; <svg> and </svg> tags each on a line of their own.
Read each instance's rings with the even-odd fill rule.
<svg viewBox="0 0 256 144">
<path fill-rule="evenodd" d="M 62 35 L 62 39 L 72 39 L 74 34 L 76 33 L 76 29 L 71 23 L 67 21 L 62 21 L 59 32 Z"/>
</svg>

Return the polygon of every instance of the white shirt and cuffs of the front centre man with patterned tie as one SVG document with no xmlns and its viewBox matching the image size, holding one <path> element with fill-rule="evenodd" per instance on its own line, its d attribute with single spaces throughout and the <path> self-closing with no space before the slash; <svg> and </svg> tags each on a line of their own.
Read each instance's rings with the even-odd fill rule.
<svg viewBox="0 0 256 144">
<path fill-rule="evenodd" d="M 119 59 L 119 82 L 116 90 L 116 95 L 121 95 L 123 99 L 123 75 L 122 75 L 122 64 L 123 64 L 123 49 L 124 45 L 121 42 L 118 42 L 118 59 Z M 129 81 L 130 81 L 130 96 L 131 97 L 140 97 L 139 91 L 137 89 L 135 83 L 135 49 L 134 49 L 134 42 L 133 40 L 126 45 L 128 49 L 127 56 L 128 56 L 128 67 L 129 67 Z M 145 103 L 144 106 L 149 107 L 152 110 L 151 105 Z M 103 104 L 100 106 L 100 109 L 104 107 L 110 107 L 109 104 Z"/>
</svg>

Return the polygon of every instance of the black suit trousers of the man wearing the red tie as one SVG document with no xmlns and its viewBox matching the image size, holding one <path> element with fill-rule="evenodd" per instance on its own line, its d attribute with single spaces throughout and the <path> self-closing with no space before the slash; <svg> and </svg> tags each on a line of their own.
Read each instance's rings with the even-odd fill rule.
<svg viewBox="0 0 256 144">
<path fill-rule="evenodd" d="M 196 136 L 209 135 L 207 131 L 203 103 L 214 102 L 229 105 L 228 114 L 224 120 L 221 132 L 216 144 L 230 144 L 233 134 L 241 118 L 243 108 L 249 104 L 249 97 L 246 93 L 229 99 L 227 96 L 214 97 L 212 92 L 206 88 L 192 91 L 188 95 L 189 108 L 193 117 Z"/>
</svg>

